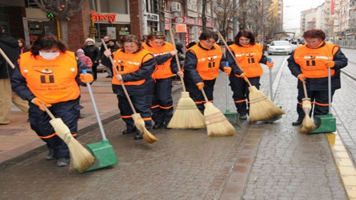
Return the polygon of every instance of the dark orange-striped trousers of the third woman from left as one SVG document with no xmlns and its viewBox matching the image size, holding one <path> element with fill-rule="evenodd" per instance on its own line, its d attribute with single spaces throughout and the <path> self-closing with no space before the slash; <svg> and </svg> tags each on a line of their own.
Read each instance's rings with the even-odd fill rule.
<svg viewBox="0 0 356 200">
<path fill-rule="evenodd" d="M 152 119 L 157 123 L 169 123 L 173 115 L 172 78 L 156 79 L 152 98 Z"/>
</svg>

